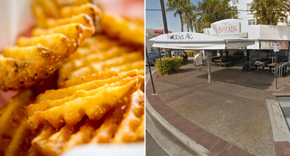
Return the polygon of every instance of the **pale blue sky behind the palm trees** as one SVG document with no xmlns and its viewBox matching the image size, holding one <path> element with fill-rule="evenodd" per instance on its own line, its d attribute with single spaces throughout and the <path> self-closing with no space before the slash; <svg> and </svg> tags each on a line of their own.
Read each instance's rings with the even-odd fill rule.
<svg viewBox="0 0 290 156">
<path fill-rule="evenodd" d="M 190 0 L 194 5 L 198 5 L 198 0 Z M 167 0 L 164 0 L 165 9 Z M 146 9 L 161 9 L 159 0 L 146 0 Z M 147 29 L 163 29 L 162 27 L 162 13 L 161 11 L 149 11 L 146 10 L 146 28 Z M 180 18 L 177 16 L 174 18 L 174 11 L 166 12 L 166 19 L 168 30 L 172 32 L 180 32 L 181 24 Z M 160 26 L 161 25 L 161 26 Z M 187 31 L 186 25 L 183 26 L 183 31 Z M 190 31 L 190 30 L 189 30 Z"/>
</svg>

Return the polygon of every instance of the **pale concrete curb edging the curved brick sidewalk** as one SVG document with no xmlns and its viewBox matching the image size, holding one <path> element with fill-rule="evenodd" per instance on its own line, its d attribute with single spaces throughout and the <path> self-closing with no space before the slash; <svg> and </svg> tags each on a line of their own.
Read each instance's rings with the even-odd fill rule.
<svg viewBox="0 0 290 156">
<path fill-rule="evenodd" d="M 154 69 L 152 71 L 152 74 L 156 72 L 157 69 Z M 150 73 L 146 74 L 146 82 L 145 87 L 147 86 L 147 82 L 150 79 Z M 180 132 L 178 129 L 176 129 L 174 126 L 172 126 L 169 122 L 167 122 L 161 115 L 159 115 L 155 109 L 151 106 L 149 103 L 147 96 L 145 94 L 146 99 L 146 110 L 150 113 L 150 115 L 156 119 L 164 128 L 166 128 L 172 135 L 174 135 L 179 141 L 181 141 L 184 145 L 186 145 L 189 149 L 195 151 L 198 153 L 198 155 L 207 156 L 210 151 L 203 146 L 199 145 L 195 141 L 193 141 L 191 138 Z"/>
</svg>

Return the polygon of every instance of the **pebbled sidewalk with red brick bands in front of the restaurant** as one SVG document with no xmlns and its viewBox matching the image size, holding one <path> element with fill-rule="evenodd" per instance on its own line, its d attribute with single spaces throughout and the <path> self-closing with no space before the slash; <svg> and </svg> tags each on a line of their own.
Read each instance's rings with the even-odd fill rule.
<svg viewBox="0 0 290 156">
<path fill-rule="evenodd" d="M 207 83 L 206 66 L 189 63 L 182 70 L 163 77 L 156 71 L 156 95 L 151 81 L 146 86 L 151 106 L 172 126 L 211 151 L 209 155 L 287 153 L 281 147 L 289 143 L 274 143 L 266 99 L 289 93 L 290 76 L 278 78 L 276 90 L 273 75 L 242 72 L 237 66 L 212 66 L 213 83 Z"/>
</svg>

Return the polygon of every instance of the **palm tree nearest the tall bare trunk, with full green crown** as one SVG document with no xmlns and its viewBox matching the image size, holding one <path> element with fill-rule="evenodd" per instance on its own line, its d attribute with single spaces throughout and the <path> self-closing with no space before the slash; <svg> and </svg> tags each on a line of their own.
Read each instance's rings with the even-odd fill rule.
<svg viewBox="0 0 290 156">
<path fill-rule="evenodd" d="M 181 32 L 183 32 L 182 13 L 184 12 L 184 9 L 186 9 L 189 3 L 190 3 L 189 0 L 168 0 L 166 3 L 167 9 L 176 10 L 173 14 L 175 18 L 177 17 L 177 14 L 179 15 L 181 23 Z"/>
</svg>

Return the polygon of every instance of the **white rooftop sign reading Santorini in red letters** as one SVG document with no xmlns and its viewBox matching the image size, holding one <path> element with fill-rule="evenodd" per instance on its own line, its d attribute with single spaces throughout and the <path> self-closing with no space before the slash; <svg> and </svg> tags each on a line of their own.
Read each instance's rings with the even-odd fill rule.
<svg viewBox="0 0 290 156">
<path fill-rule="evenodd" d="M 241 32 L 239 21 L 217 21 L 211 24 L 211 28 L 218 36 L 248 37 L 247 32 Z"/>
</svg>

